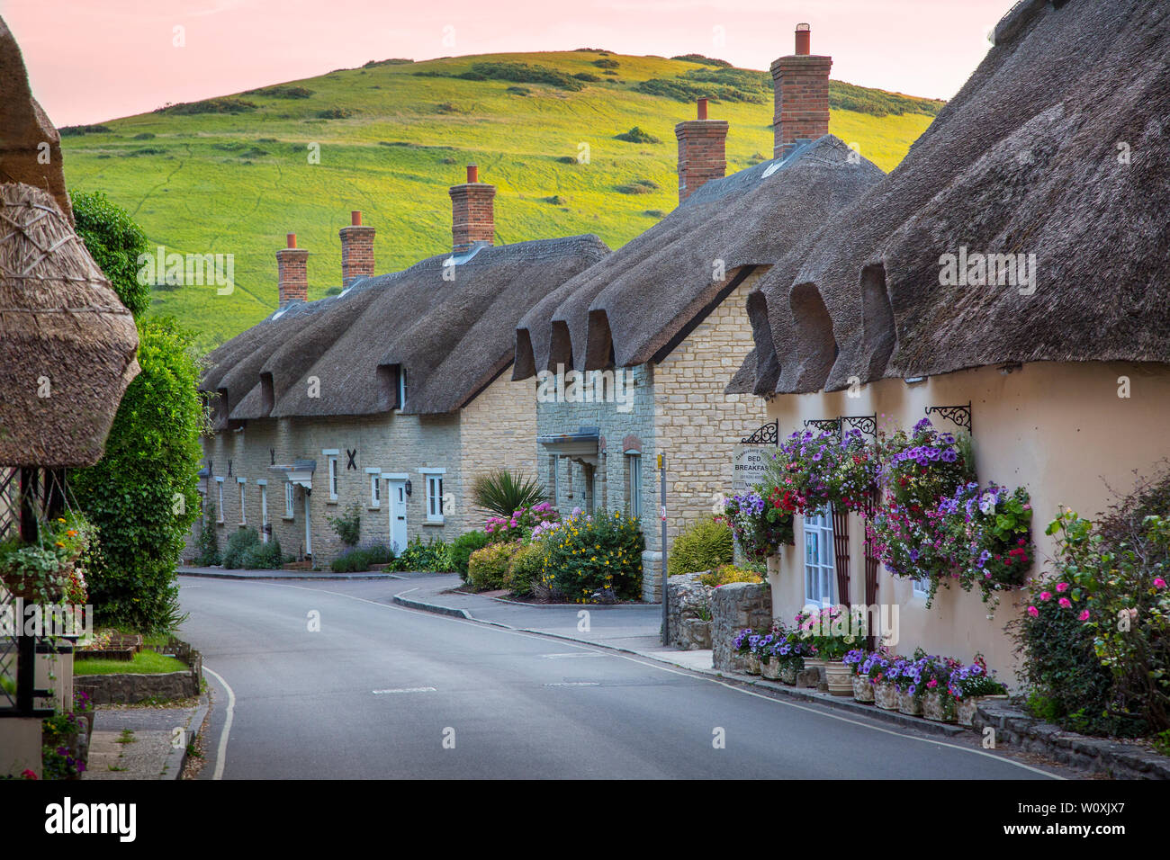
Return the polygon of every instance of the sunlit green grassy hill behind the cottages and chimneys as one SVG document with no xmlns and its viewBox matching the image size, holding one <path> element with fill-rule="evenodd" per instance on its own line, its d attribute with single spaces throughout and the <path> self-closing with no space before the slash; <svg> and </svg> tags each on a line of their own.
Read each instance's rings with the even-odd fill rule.
<svg viewBox="0 0 1170 860">
<path fill-rule="evenodd" d="M 153 311 L 209 348 L 275 308 L 285 233 L 311 252 L 310 298 L 340 282 L 350 209 L 378 228 L 378 271 L 449 248 L 447 187 L 468 163 L 498 188 L 497 241 L 596 233 L 621 246 L 677 201 L 674 125 L 696 95 L 731 124 L 729 173 L 771 156 L 768 73 L 580 50 L 383 61 L 64 129 L 66 178 L 124 206 L 152 248 L 234 254 L 232 295 L 154 290 Z M 831 98 L 831 131 L 887 171 L 941 106 L 838 82 Z M 615 137 L 633 126 L 652 139 Z"/>
</svg>

